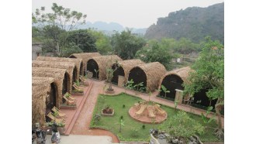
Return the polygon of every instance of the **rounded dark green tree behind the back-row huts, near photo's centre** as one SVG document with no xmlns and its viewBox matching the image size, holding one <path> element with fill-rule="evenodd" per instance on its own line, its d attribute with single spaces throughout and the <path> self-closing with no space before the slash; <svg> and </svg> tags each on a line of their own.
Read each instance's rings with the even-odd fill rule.
<svg viewBox="0 0 256 144">
<path fill-rule="evenodd" d="M 140 50 L 145 43 L 143 38 L 133 35 L 130 29 L 121 33 L 116 32 L 111 38 L 114 52 L 123 60 L 133 59 L 137 50 Z"/>
</svg>

